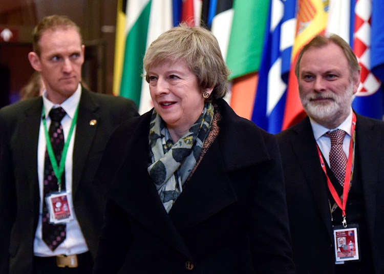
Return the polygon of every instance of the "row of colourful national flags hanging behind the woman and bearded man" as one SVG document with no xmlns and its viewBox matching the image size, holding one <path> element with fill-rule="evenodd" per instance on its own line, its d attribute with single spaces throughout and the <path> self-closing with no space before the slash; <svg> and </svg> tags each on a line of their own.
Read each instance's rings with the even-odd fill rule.
<svg viewBox="0 0 384 274">
<path fill-rule="evenodd" d="M 187 21 L 217 37 L 230 75 L 226 100 L 240 116 L 278 133 L 305 116 L 294 66 L 316 34 L 336 33 L 353 48 L 361 84 L 360 114 L 384 114 L 384 0 L 119 0 L 114 94 L 152 108 L 142 77 L 145 50 L 164 31 Z"/>
</svg>

